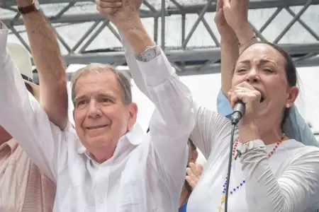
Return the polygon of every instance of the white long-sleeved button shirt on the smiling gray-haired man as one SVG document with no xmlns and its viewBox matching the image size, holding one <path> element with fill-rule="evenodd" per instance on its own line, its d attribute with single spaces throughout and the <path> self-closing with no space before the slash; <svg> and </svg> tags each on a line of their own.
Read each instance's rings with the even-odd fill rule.
<svg viewBox="0 0 319 212">
<path fill-rule="evenodd" d="M 135 124 L 113 157 L 98 164 L 28 95 L 6 50 L 7 34 L 0 30 L 0 124 L 57 183 L 54 211 L 177 211 L 194 117 L 191 93 L 165 55 L 143 63 L 128 54 L 135 83 L 156 106 L 150 134 Z"/>
</svg>

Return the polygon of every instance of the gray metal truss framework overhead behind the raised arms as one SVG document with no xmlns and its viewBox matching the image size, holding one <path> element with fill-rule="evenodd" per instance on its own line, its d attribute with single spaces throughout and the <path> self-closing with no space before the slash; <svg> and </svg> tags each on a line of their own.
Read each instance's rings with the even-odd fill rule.
<svg viewBox="0 0 319 212">
<path fill-rule="evenodd" d="M 185 71 L 191 71 L 189 73 L 205 73 L 210 72 L 209 69 L 216 69 L 220 66 L 220 43 L 214 35 L 213 30 L 209 26 L 208 22 L 205 20 L 204 15 L 207 12 L 215 12 L 216 11 L 216 0 L 208 0 L 206 4 L 202 5 L 181 5 L 179 4 L 179 0 L 169 0 L 172 4 L 169 5 L 167 8 L 167 1 L 161 0 L 160 7 L 153 6 L 150 1 L 143 1 L 143 4 L 146 10 L 140 11 L 140 16 L 142 18 L 154 18 L 154 39 L 155 42 L 161 42 L 162 49 L 167 54 L 168 59 L 172 62 L 174 67 L 178 70 L 178 72 L 184 73 Z M 79 13 L 70 15 L 67 14 L 69 8 L 74 6 L 79 6 L 82 3 L 90 3 L 92 1 L 88 0 L 40 0 L 40 3 L 43 4 L 65 4 L 58 11 L 57 15 L 47 17 L 50 24 L 72 24 L 72 23 L 87 23 L 91 22 L 92 25 L 88 27 L 88 30 L 84 35 L 77 41 L 74 47 L 69 47 L 67 42 L 63 40 L 62 36 L 57 33 L 57 38 L 60 40 L 61 44 L 67 49 L 68 54 L 65 55 L 65 61 L 67 64 L 72 63 L 81 63 L 81 64 L 89 64 L 91 62 L 103 62 L 103 63 L 110 63 L 110 64 L 117 64 L 121 65 L 125 63 L 125 57 L 123 52 L 102 52 L 102 53 L 88 53 L 86 52 L 87 47 L 91 44 L 91 42 L 96 39 L 96 37 L 101 33 L 104 28 L 108 28 L 111 30 L 111 33 L 115 35 L 118 40 L 121 40 L 120 35 L 109 20 L 106 20 L 104 16 L 99 15 L 98 13 Z M 9 9 L 10 11 L 16 11 L 16 8 L 13 6 L 16 4 L 16 0 L 4 0 L 3 8 Z M 278 43 L 284 35 L 289 31 L 291 26 L 298 22 L 301 24 L 304 30 L 308 31 L 310 35 L 312 35 L 315 40 L 318 42 L 308 43 L 308 44 L 301 44 L 301 45 L 283 45 L 283 47 L 291 54 L 291 55 L 298 55 L 298 58 L 294 58 L 296 64 L 298 66 L 308 66 L 309 64 L 312 65 L 319 65 L 318 57 L 315 57 L 319 54 L 319 35 L 315 33 L 315 30 L 311 29 L 309 25 L 301 20 L 301 16 L 307 10 L 310 5 L 319 5 L 319 0 L 263 0 L 263 1 L 250 1 L 250 9 L 260 9 L 260 8 L 276 8 L 276 11 L 268 18 L 268 20 L 262 25 L 262 27 L 258 30 L 254 27 L 252 23 L 250 26 L 256 33 L 257 37 L 261 40 L 267 41 L 267 39 L 262 35 L 264 30 L 272 24 L 273 20 L 278 16 L 278 14 L 284 9 L 286 10 L 291 16 L 293 16 L 293 20 L 291 20 L 286 28 L 284 28 L 281 33 L 279 33 L 278 37 L 274 40 L 275 43 Z M 291 10 L 291 6 L 303 6 L 301 11 L 298 13 L 294 13 Z M 192 26 L 190 32 L 186 35 L 186 15 L 187 14 L 197 14 L 198 18 L 196 19 L 194 25 Z M 167 33 L 165 29 L 166 24 L 166 17 L 171 15 L 179 15 L 181 16 L 181 45 L 177 47 L 177 49 L 172 50 L 172 47 L 168 47 L 165 43 L 165 33 Z M 158 20 L 159 18 L 162 19 L 161 23 L 161 40 L 158 40 Z M 16 30 L 15 26 L 22 25 L 23 21 L 19 14 L 12 18 L 12 19 L 4 19 L 2 20 L 9 29 L 11 29 L 11 33 L 16 35 L 19 40 L 21 40 L 22 44 L 25 45 L 28 49 L 30 49 L 27 45 L 27 42 L 23 40 L 19 32 Z M 203 23 L 204 27 L 208 31 L 208 34 L 212 37 L 213 41 L 215 42 L 214 47 L 210 48 L 203 48 L 203 47 L 188 47 L 189 40 L 194 35 L 194 31 L 198 27 L 199 23 Z M 56 28 L 57 29 L 57 28 Z M 119 49 L 121 51 L 121 49 Z M 308 64 L 306 64 L 306 62 Z M 196 65 L 194 65 L 196 64 Z M 200 65 L 197 65 L 200 64 Z M 214 68 L 215 67 L 215 68 Z"/>
</svg>

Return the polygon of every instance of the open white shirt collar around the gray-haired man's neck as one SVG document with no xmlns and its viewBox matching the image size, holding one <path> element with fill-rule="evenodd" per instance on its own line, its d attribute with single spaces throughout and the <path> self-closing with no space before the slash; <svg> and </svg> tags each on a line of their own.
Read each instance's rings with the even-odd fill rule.
<svg viewBox="0 0 319 212">
<path fill-rule="evenodd" d="M 145 136 L 145 132 L 142 130 L 142 126 L 140 124 L 135 123 L 133 129 L 128 131 L 125 135 L 121 136 L 118 140 L 118 144 L 128 141 L 134 146 L 138 146 L 141 142 L 143 137 Z M 89 153 L 86 151 L 86 148 L 83 146 L 81 142 L 77 144 L 77 153 L 83 154 L 85 153 L 89 157 Z M 89 157 L 90 158 L 90 157 Z"/>
</svg>

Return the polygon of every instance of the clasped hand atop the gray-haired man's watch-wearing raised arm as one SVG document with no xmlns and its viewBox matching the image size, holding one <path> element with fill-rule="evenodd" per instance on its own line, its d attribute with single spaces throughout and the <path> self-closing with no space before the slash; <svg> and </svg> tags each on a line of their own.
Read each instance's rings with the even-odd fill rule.
<svg viewBox="0 0 319 212">
<path fill-rule="evenodd" d="M 142 0 L 96 0 L 96 9 L 121 29 L 139 20 L 141 4 Z"/>
</svg>

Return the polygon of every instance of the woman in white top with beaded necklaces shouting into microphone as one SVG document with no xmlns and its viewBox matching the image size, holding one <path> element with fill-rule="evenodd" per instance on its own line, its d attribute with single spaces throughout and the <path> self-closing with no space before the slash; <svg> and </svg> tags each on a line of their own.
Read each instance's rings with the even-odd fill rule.
<svg viewBox="0 0 319 212">
<path fill-rule="evenodd" d="M 319 150 L 289 139 L 281 130 L 286 111 L 298 96 L 296 67 L 275 45 L 250 45 L 254 36 L 247 16 L 240 15 L 247 13 L 248 1 L 222 3 L 218 2 L 217 16 L 225 17 L 242 47 L 228 98 L 232 106 L 237 100 L 246 105 L 235 131 L 233 153 L 241 150 L 242 155 L 232 163 L 228 211 L 315 211 Z M 237 57 L 230 53 L 222 58 Z M 224 211 L 230 132 L 229 119 L 196 108 L 191 140 L 208 161 L 189 198 L 188 212 Z"/>
</svg>

